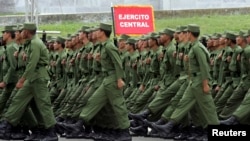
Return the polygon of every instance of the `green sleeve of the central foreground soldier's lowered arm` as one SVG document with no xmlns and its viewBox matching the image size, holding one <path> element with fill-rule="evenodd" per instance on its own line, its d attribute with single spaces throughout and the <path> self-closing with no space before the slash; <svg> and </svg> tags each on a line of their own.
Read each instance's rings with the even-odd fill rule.
<svg viewBox="0 0 250 141">
<path fill-rule="evenodd" d="M 108 47 L 105 47 L 105 48 L 106 48 L 107 53 L 109 54 L 109 57 L 114 63 L 117 79 L 124 78 L 122 61 L 121 61 L 121 57 L 118 53 L 117 48 L 113 47 L 112 45 L 108 45 Z"/>
</svg>

